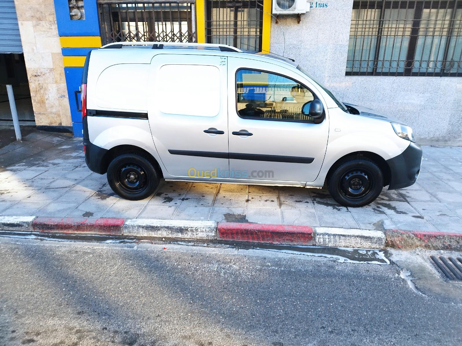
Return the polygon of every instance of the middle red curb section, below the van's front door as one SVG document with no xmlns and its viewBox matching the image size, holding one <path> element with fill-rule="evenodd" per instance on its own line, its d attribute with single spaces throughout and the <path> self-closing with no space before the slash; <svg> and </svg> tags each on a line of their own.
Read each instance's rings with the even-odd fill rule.
<svg viewBox="0 0 462 346">
<path fill-rule="evenodd" d="M 292 225 L 219 222 L 218 239 L 273 244 L 311 245 L 313 228 Z"/>
</svg>

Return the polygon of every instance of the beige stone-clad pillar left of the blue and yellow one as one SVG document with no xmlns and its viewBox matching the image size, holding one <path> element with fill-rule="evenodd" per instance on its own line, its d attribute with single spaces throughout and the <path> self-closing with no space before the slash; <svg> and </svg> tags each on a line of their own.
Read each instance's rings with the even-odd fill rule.
<svg viewBox="0 0 462 346">
<path fill-rule="evenodd" d="M 71 126 L 53 0 L 15 0 L 36 125 Z"/>
</svg>

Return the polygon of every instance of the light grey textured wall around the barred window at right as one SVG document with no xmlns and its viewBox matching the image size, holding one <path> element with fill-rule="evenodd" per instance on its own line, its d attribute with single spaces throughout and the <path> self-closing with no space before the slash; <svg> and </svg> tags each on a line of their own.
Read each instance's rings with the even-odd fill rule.
<svg viewBox="0 0 462 346">
<path fill-rule="evenodd" d="M 271 52 L 295 59 L 341 101 L 412 126 L 418 143 L 462 145 L 462 78 L 345 76 L 353 0 L 322 4 L 300 24 L 296 16 L 272 18 Z"/>
</svg>

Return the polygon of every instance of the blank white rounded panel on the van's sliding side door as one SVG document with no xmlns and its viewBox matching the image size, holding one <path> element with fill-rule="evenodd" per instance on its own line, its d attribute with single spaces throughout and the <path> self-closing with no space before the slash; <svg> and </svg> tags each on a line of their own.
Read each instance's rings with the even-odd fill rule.
<svg viewBox="0 0 462 346">
<path fill-rule="evenodd" d="M 220 111 L 220 71 L 209 65 L 164 65 L 155 99 L 167 114 L 214 117 Z"/>
</svg>

